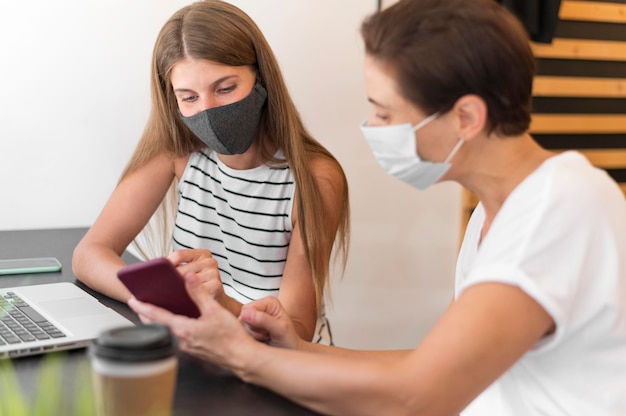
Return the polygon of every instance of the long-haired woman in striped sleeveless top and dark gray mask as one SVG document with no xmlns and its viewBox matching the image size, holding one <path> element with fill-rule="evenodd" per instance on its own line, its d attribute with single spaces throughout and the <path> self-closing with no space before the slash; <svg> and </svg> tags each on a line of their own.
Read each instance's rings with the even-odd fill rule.
<svg viewBox="0 0 626 416">
<path fill-rule="evenodd" d="M 121 254 L 151 218 L 174 218 L 155 235 L 171 239 L 164 254 L 181 273 L 196 272 L 235 315 L 277 296 L 300 336 L 330 343 L 324 290 L 334 243 L 346 254 L 348 185 L 303 126 L 256 24 L 222 1 L 179 10 L 157 38 L 151 90 L 135 153 L 75 249 L 76 276 L 128 300 Z"/>
</svg>

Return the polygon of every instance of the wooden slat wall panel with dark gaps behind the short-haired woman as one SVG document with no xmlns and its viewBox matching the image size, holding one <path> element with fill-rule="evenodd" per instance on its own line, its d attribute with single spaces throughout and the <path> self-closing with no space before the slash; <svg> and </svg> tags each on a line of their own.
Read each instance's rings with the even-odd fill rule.
<svg viewBox="0 0 626 416">
<path fill-rule="evenodd" d="M 530 46 L 541 109 L 531 134 L 552 150 L 581 151 L 626 195 L 626 1 L 563 0 L 552 43 Z M 477 203 L 463 192 L 461 237 Z"/>
</svg>

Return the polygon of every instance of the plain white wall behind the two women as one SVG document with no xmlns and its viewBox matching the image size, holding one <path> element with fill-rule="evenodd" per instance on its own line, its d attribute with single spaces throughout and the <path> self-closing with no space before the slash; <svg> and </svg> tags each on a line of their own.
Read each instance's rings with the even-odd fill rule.
<svg viewBox="0 0 626 416">
<path fill-rule="evenodd" d="M 94 221 L 146 121 L 157 32 L 188 3 L 0 3 L 0 230 Z M 460 192 L 387 177 L 360 135 L 358 27 L 376 1 L 232 3 L 264 31 L 305 123 L 348 175 L 352 246 L 329 307 L 336 341 L 413 346 L 452 295 Z"/>
</svg>

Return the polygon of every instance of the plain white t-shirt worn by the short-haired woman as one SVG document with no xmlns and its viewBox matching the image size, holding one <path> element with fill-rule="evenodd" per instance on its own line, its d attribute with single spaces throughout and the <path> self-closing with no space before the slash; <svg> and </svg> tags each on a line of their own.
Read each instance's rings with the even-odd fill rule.
<svg viewBox="0 0 626 416">
<path fill-rule="evenodd" d="M 456 297 L 480 282 L 520 287 L 556 331 L 462 414 L 626 415 L 626 202 L 618 186 L 578 152 L 564 152 L 511 193 L 479 247 L 484 219 L 479 204 L 459 253 Z"/>
</svg>

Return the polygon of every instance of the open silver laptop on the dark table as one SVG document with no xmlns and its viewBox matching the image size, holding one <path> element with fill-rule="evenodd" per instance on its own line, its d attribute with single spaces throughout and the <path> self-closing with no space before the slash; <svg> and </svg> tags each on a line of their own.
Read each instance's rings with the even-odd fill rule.
<svg viewBox="0 0 626 416">
<path fill-rule="evenodd" d="M 69 282 L 0 288 L 0 359 L 83 348 L 135 325 Z"/>
</svg>

